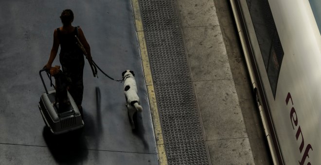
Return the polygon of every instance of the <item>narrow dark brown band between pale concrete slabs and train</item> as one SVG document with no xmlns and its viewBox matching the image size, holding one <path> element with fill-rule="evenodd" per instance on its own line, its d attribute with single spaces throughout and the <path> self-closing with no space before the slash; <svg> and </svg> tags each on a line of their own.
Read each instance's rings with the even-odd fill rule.
<svg viewBox="0 0 321 165">
<path fill-rule="evenodd" d="M 225 47 L 229 57 L 239 105 L 244 117 L 255 165 L 272 165 L 267 137 L 253 95 L 243 50 L 237 34 L 229 1 L 214 0 Z"/>
</svg>

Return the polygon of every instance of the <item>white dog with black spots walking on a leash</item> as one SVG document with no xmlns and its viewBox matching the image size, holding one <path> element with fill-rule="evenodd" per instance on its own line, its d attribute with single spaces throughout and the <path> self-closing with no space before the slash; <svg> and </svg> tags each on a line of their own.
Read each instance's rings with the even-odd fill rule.
<svg viewBox="0 0 321 165">
<path fill-rule="evenodd" d="M 137 85 L 135 81 L 135 74 L 131 70 L 125 70 L 122 73 L 124 80 L 124 92 L 126 98 L 126 107 L 128 110 L 128 116 L 130 119 L 131 127 L 134 130 L 135 124 L 133 120 L 133 115 L 136 112 L 142 112 L 143 107 L 140 105 L 140 100 L 137 95 Z"/>
</svg>

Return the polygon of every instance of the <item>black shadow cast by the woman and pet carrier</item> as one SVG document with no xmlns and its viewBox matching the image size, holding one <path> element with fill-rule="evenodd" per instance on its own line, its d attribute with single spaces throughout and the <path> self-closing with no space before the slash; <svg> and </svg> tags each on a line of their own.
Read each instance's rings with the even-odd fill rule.
<svg viewBox="0 0 321 165">
<path fill-rule="evenodd" d="M 100 116 L 100 92 L 97 89 L 96 97 L 97 114 Z M 99 141 L 99 134 L 94 133 L 95 131 L 92 132 L 92 130 L 98 129 L 97 132 L 101 132 L 101 118 L 98 117 L 93 120 L 92 116 L 86 113 L 85 108 L 83 114 L 85 126 L 81 129 L 60 135 L 54 135 L 48 127 L 44 127 L 42 133 L 43 137 L 51 154 L 58 164 L 77 164 L 86 161 L 88 158 L 88 146 L 85 135 L 88 130 L 91 130 L 89 133 L 95 137 L 96 141 Z"/>
</svg>

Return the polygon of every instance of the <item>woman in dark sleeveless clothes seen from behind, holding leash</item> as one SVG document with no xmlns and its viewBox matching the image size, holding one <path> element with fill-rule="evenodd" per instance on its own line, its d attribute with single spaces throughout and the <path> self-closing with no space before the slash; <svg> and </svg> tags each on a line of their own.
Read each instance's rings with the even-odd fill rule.
<svg viewBox="0 0 321 165">
<path fill-rule="evenodd" d="M 90 47 L 80 27 L 73 27 L 71 25 L 73 13 L 70 9 L 64 10 L 61 13 L 60 19 L 63 26 L 54 30 L 53 48 L 51 49 L 48 63 L 44 67 L 46 69 L 51 68 L 60 45 L 59 61 L 62 66 L 62 71 L 67 77 L 69 92 L 77 104 L 81 115 L 83 115 L 81 103 L 84 92 L 83 70 L 85 60 L 84 53 L 76 44 L 77 40 L 75 35 L 77 35 L 87 51 L 87 58 L 89 60 L 91 60 Z"/>
</svg>

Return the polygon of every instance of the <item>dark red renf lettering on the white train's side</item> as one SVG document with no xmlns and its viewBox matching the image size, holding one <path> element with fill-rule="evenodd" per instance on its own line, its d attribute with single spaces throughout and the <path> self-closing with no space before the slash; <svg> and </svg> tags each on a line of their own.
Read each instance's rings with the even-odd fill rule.
<svg viewBox="0 0 321 165">
<path fill-rule="evenodd" d="M 292 97 L 291 97 L 291 94 L 290 94 L 290 92 L 289 92 L 289 93 L 287 94 L 287 96 L 286 96 L 286 99 L 285 99 L 286 105 L 288 105 L 290 99 L 291 99 L 292 105 L 294 105 L 294 104 L 293 104 Z M 290 121 L 291 121 L 293 130 L 295 130 L 295 128 L 296 128 L 296 127 L 298 126 L 298 124 L 299 124 L 299 121 L 298 121 L 298 115 L 297 115 L 297 113 L 296 113 L 296 111 L 295 111 L 295 109 L 294 109 L 294 106 L 292 106 L 292 108 L 291 108 L 291 110 L 290 110 Z M 294 125 L 293 125 L 293 124 L 294 124 Z M 294 126 L 295 126 L 295 128 L 294 128 Z M 301 136 L 300 136 L 300 135 L 301 135 Z M 300 153 L 302 153 L 302 150 L 303 150 L 303 148 L 304 148 L 304 138 L 303 138 L 303 133 L 302 133 L 302 130 L 301 130 L 300 125 L 299 125 L 299 127 L 298 127 L 297 133 L 295 134 L 295 137 L 296 137 L 297 141 L 298 141 L 299 137 L 301 137 L 301 144 L 300 144 L 299 150 L 300 150 Z M 305 150 L 304 150 L 304 153 L 303 153 L 303 156 L 302 156 L 302 158 L 301 158 L 301 161 L 299 160 L 299 164 L 300 164 L 300 165 L 304 165 L 304 162 L 305 162 L 306 157 L 310 158 L 310 157 L 309 157 L 309 151 L 310 151 L 310 149 L 313 150 L 313 149 L 312 149 L 312 146 L 311 146 L 310 144 L 306 145 Z M 311 165 L 311 163 L 308 162 L 307 165 Z"/>
</svg>

